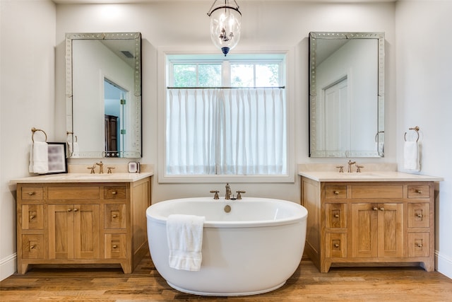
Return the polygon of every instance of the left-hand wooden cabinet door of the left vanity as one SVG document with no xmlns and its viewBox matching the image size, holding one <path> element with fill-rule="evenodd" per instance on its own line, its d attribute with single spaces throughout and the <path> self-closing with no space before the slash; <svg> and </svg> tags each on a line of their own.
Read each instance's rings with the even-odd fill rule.
<svg viewBox="0 0 452 302">
<path fill-rule="evenodd" d="M 73 204 L 49 204 L 49 259 L 73 258 Z"/>
</svg>

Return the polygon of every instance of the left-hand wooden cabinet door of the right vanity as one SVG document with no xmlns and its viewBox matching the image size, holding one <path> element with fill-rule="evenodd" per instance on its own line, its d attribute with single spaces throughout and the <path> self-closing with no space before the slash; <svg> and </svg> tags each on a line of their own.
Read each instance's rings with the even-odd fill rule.
<svg viewBox="0 0 452 302">
<path fill-rule="evenodd" d="M 352 257 L 378 256 L 378 205 L 352 204 Z"/>
</svg>

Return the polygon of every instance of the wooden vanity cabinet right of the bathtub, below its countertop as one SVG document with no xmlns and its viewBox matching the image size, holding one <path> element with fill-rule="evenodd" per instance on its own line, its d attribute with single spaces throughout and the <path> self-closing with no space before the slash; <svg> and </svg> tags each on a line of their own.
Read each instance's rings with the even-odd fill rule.
<svg viewBox="0 0 452 302">
<path fill-rule="evenodd" d="M 434 182 L 318 182 L 302 177 L 305 252 L 331 265 L 434 270 Z"/>
</svg>

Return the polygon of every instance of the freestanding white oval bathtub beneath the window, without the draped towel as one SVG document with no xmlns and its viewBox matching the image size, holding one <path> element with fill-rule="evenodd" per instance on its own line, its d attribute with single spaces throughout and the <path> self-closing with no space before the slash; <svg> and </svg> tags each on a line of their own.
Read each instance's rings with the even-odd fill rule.
<svg viewBox="0 0 452 302">
<path fill-rule="evenodd" d="M 170 214 L 206 216 L 200 271 L 169 267 L 166 221 Z M 273 291 L 285 284 L 302 260 L 307 209 L 294 202 L 252 197 L 172 199 L 148 207 L 146 216 L 155 268 L 169 286 L 184 293 L 244 296 Z"/>
</svg>

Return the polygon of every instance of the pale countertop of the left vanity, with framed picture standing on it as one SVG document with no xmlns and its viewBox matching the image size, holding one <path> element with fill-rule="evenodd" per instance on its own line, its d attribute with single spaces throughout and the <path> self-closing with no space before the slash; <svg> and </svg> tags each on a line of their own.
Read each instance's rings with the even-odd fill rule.
<svg viewBox="0 0 452 302">
<path fill-rule="evenodd" d="M 16 178 L 11 183 L 50 183 L 50 182 L 136 182 L 154 175 L 152 172 L 142 173 L 65 173 Z"/>
</svg>

